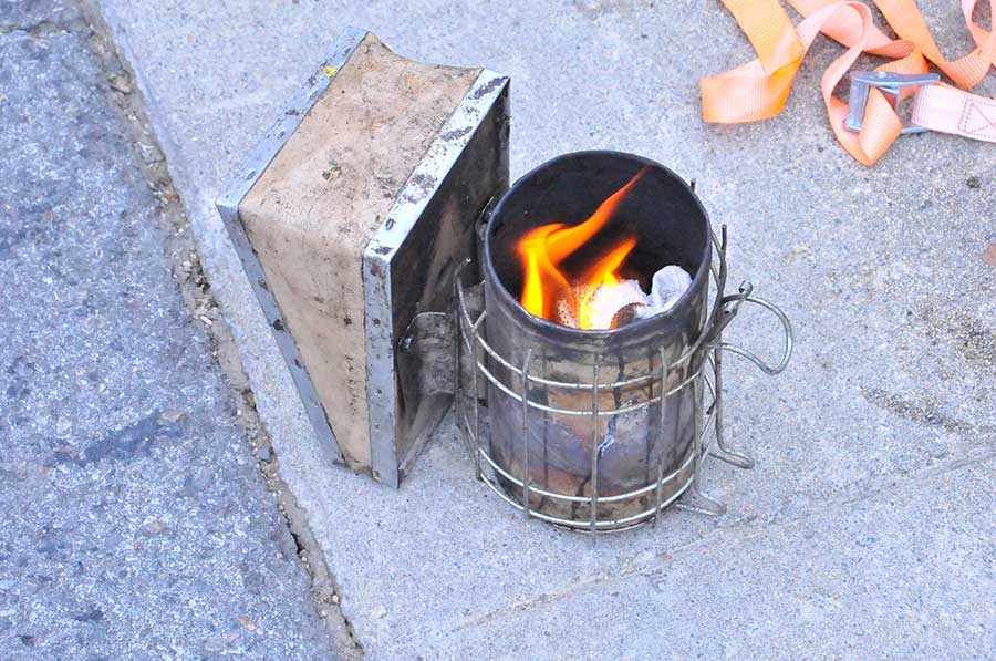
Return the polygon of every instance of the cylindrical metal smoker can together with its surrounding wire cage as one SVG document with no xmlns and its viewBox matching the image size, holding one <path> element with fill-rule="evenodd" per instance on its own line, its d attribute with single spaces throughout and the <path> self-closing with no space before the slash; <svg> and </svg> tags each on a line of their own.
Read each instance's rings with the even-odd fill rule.
<svg viewBox="0 0 996 661">
<path fill-rule="evenodd" d="M 569 329 L 529 314 L 507 288 L 512 271 L 496 267 L 502 252 L 496 245 L 561 220 L 549 216 L 571 204 L 568 197 L 544 205 L 530 195 L 530 184 L 547 177 L 560 194 L 567 188 L 568 195 L 578 190 L 584 197 L 585 182 L 572 186 L 560 175 L 577 177 L 588 169 L 610 182 L 616 177 L 609 186 L 615 188 L 644 166 L 653 168 L 649 177 L 666 184 L 650 192 L 650 204 L 656 200 L 668 223 L 694 226 L 696 238 L 686 241 L 686 250 L 695 254 L 672 256 L 694 272 L 689 289 L 667 313 L 611 331 Z M 594 193 L 590 210 L 604 197 Z M 683 231 L 675 227 L 665 229 Z M 511 237 L 496 240 L 502 231 Z M 456 283 L 458 350 L 476 366 L 468 394 L 457 397 L 457 417 L 478 478 L 527 516 L 593 533 L 655 519 L 689 488 L 686 507 L 722 512 L 701 488 L 702 462 L 713 455 L 751 465 L 723 438 L 722 351 L 733 349 L 777 373 L 791 354 L 791 328 L 780 310 L 751 296 L 749 285 L 725 293 L 726 231 L 722 238 L 712 233 L 693 188 L 639 157 L 569 154 L 520 179 L 498 203 L 485 236 L 484 310 L 469 304 L 469 282 Z M 782 322 L 786 348 L 774 368 L 722 340 L 745 302 L 762 306 Z"/>
</svg>

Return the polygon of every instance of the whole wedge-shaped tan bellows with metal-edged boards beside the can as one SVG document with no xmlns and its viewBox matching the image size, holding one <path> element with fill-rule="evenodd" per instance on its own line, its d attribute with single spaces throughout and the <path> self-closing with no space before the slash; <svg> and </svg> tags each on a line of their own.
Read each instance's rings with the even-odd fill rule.
<svg viewBox="0 0 996 661">
<path fill-rule="evenodd" d="M 394 70 L 396 93 L 369 89 Z M 448 316 L 455 269 L 476 250 L 474 223 L 508 187 L 508 83 L 398 58 L 349 28 L 217 203 L 315 434 L 336 461 L 393 486 L 452 401 L 438 386 L 452 379 L 421 379 L 403 345 L 418 314 Z M 356 124 L 367 94 L 380 123 L 365 135 Z M 359 106 L 359 122 L 326 128 L 343 102 Z M 344 134 L 353 143 L 329 146 Z M 395 148 L 414 159 L 382 172 Z M 328 203 L 326 188 L 334 195 L 363 168 L 354 197 Z"/>
</svg>

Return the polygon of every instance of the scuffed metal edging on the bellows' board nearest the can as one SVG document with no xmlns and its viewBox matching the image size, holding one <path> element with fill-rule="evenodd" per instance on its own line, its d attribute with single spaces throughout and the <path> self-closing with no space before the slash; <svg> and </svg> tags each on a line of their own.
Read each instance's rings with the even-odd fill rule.
<svg viewBox="0 0 996 661">
<path fill-rule="evenodd" d="M 366 374 L 370 410 L 371 463 L 378 482 L 398 486 L 397 396 L 392 318 L 392 261 L 433 197 L 446 185 L 464 149 L 508 87 L 506 75 L 481 70 L 460 104 L 439 132 L 439 137 L 398 192 L 396 202 L 363 252 L 366 323 Z M 426 189 L 425 182 L 434 182 Z M 414 448 L 417 452 L 417 448 Z"/>
</svg>

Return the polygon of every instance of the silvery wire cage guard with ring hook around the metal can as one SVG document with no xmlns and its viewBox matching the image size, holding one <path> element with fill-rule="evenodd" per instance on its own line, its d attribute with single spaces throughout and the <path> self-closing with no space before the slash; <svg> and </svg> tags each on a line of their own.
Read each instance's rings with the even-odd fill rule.
<svg viewBox="0 0 996 661">
<path fill-rule="evenodd" d="M 725 506 L 702 488 L 702 464 L 704 459 L 707 456 L 713 456 L 741 468 L 750 468 L 754 462 L 747 455 L 729 448 L 724 438 L 723 352 L 729 351 L 741 355 L 767 374 L 778 374 L 785 370 L 791 358 L 792 329 L 788 317 L 777 306 L 753 296 L 753 286 L 749 282 L 745 281 L 736 293 L 725 293 L 727 278 L 726 226 L 722 228 L 720 237 L 717 237 L 715 233 L 710 233 L 710 239 L 713 249 L 718 254 L 719 264 L 718 267 L 715 261 L 709 265 L 713 292 L 712 303 L 704 309 L 704 313 L 709 311 L 709 316 L 705 320 L 703 332 L 676 360 L 670 362 L 665 360 L 664 349 L 661 348 L 660 370 L 637 374 L 616 382 L 603 383 L 601 381 L 598 360 L 593 361 L 594 365 L 590 382 L 556 381 L 531 373 L 531 350 L 527 352 L 522 364 L 511 364 L 509 360 L 499 354 L 488 343 L 485 337 L 484 321 L 487 318 L 487 311 L 484 310 L 483 306 L 470 302 L 471 299 L 478 298 L 478 290 L 483 283 L 474 283 L 473 286 L 465 283 L 464 269 L 461 268 L 457 272 L 454 280 L 454 313 L 457 329 L 457 338 L 456 342 L 454 342 L 455 358 L 457 365 L 466 365 L 469 362 L 470 370 L 464 370 L 465 376 L 455 380 L 457 385 L 455 410 L 457 424 L 464 441 L 474 456 L 474 469 L 478 479 L 483 481 L 506 503 L 522 512 L 526 517 L 535 517 L 566 528 L 590 530 L 591 533 L 625 530 L 649 521 L 656 524 L 661 513 L 671 505 L 707 515 L 719 515 L 725 512 Z M 464 266 L 467 265 L 465 264 Z M 775 314 L 781 322 L 785 333 L 785 350 L 778 364 L 769 365 L 749 350 L 723 340 L 724 329 L 736 317 L 744 303 L 759 306 Z M 511 381 L 510 383 L 502 382 L 502 379 L 496 373 L 498 368 L 510 375 L 508 379 L 508 381 Z M 467 371 L 470 371 L 473 375 L 467 376 Z M 664 384 L 668 383 L 668 376 L 678 372 L 687 375 L 664 391 Z M 467 383 L 461 384 L 461 381 L 467 381 Z M 600 393 L 604 393 L 610 389 L 621 389 L 643 383 L 651 385 L 651 392 L 657 391 L 660 394 L 635 403 L 623 403 L 623 405 L 615 409 L 600 407 Z M 489 425 L 483 411 L 480 399 L 485 392 L 484 389 L 492 388 L 500 390 L 504 395 L 522 407 L 521 434 L 527 458 L 521 463 L 522 471 L 519 475 L 512 474 L 513 472 L 502 467 L 496 461 L 492 456 L 490 438 L 485 437 Z M 546 390 L 551 388 L 588 393 L 590 397 L 577 397 L 574 401 L 587 399 L 590 402 L 590 406 L 584 409 L 561 407 L 551 405 L 549 397 L 544 402 L 530 396 L 531 391 L 536 392 L 537 389 Z M 601 438 L 599 421 L 604 417 L 636 411 L 645 412 L 657 405 L 656 409 L 660 411 L 662 419 L 657 430 L 663 435 L 666 428 L 663 420 L 666 410 L 664 405 L 665 400 L 685 394 L 683 393 L 685 389 L 691 389 L 691 400 L 694 403 L 692 416 L 695 426 L 693 442 L 687 455 L 682 458 L 679 465 L 676 468 L 671 467 L 667 469 L 663 455 L 661 455 L 656 462 L 656 478 L 649 481 L 649 484 L 645 486 L 625 493 L 600 495 L 598 484 L 599 461 L 604 450 L 604 442 Z M 540 448 L 529 447 L 530 410 L 540 411 L 543 414 L 587 416 L 593 422 L 591 424 L 591 484 L 588 495 L 558 493 L 549 487 L 543 488 L 540 485 L 532 484 L 529 476 L 528 453 L 530 450 L 537 452 Z M 512 490 L 513 495 L 518 497 L 510 495 L 509 490 Z M 686 494 L 687 497 L 679 500 Z M 536 497 L 568 504 L 573 512 L 584 513 L 587 516 L 567 518 L 541 512 L 541 508 L 530 505 L 531 498 Z M 647 503 L 649 506 L 634 514 L 618 518 L 600 516 L 600 510 L 623 503 Z"/>
</svg>

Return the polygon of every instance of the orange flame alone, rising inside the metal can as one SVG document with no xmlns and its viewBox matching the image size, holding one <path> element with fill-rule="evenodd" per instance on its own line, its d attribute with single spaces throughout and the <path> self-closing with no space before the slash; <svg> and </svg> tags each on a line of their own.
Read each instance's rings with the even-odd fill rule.
<svg viewBox="0 0 996 661">
<path fill-rule="evenodd" d="M 621 239 L 577 278 L 570 278 L 559 267 L 605 227 L 644 172 L 640 171 L 625 186 L 609 196 L 584 223 L 572 227 L 563 223 L 542 225 L 519 239 L 516 251 L 523 272 L 519 302 L 530 314 L 560 321 L 558 307 L 567 306 L 578 321 L 578 328 L 592 328 L 592 297 L 600 286 L 620 282 L 619 269 L 636 246 L 636 239 Z"/>
</svg>

